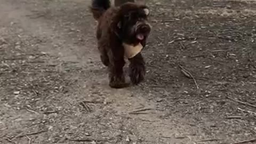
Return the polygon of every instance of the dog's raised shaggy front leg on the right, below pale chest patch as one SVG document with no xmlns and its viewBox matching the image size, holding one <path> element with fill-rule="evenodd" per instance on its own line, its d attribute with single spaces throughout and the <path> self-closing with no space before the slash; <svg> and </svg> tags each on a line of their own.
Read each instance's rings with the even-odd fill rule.
<svg viewBox="0 0 256 144">
<path fill-rule="evenodd" d="M 141 53 L 138 53 L 135 55 L 135 57 L 130 58 L 129 61 L 129 76 L 131 82 L 138 85 L 141 81 L 144 80 L 146 74 L 145 61 Z"/>
</svg>

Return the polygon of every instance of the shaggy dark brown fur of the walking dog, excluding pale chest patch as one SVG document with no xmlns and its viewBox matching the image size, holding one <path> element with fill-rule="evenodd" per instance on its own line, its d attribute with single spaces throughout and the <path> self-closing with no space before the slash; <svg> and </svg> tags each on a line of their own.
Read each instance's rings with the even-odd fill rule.
<svg viewBox="0 0 256 144">
<path fill-rule="evenodd" d="M 91 12 L 98 21 L 97 40 L 100 59 L 109 69 L 109 86 L 126 87 L 123 67 L 124 47 L 122 43 L 144 47 L 151 30 L 147 22 L 145 5 L 125 3 L 118 7 L 110 7 L 109 0 L 93 0 Z M 138 35 L 143 35 L 138 38 Z M 129 59 L 129 76 L 133 84 L 139 84 L 145 77 L 145 61 L 141 53 Z"/>
</svg>

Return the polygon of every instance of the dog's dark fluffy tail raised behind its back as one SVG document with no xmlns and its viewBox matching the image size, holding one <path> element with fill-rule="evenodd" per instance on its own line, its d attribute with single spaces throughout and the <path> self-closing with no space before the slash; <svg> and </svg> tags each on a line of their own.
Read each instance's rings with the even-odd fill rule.
<svg viewBox="0 0 256 144">
<path fill-rule="evenodd" d="M 110 0 L 92 0 L 90 7 L 93 18 L 98 20 L 101 15 L 110 7 Z"/>
</svg>

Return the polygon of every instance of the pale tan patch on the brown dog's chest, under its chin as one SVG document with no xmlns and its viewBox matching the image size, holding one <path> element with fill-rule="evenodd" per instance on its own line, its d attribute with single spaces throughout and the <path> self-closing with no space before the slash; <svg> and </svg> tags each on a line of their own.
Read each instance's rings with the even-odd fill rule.
<svg viewBox="0 0 256 144">
<path fill-rule="evenodd" d="M 139 52 L 141 52 L 141 50 L 143 48 L 141 43 L 139 43 L 138 45 L 135 45 L 135 46 L 123 43 L 123 46 L 124 46 L 124 56 L 127 59 L 133 58 L 135 55 L 137 55 Z"/>
</svg>

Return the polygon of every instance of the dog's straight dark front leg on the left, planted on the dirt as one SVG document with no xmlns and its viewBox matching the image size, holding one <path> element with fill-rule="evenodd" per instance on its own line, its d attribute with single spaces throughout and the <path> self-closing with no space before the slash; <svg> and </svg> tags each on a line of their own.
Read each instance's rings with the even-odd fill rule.
<svg viewBox="0 0 256 144">
<path fill-rule="evenodd" d="M 125 61 L 123 57 L 120 55 L 116 55 L 114 57 L 113 53 L 108 52 L 109 57 L 109 86 L 120 89 L 126 86 L 129 86 L 128 83 L 125 83 L 125 77 L 123 72 L 123 67 L 125 65 Z"/>
</svg>

